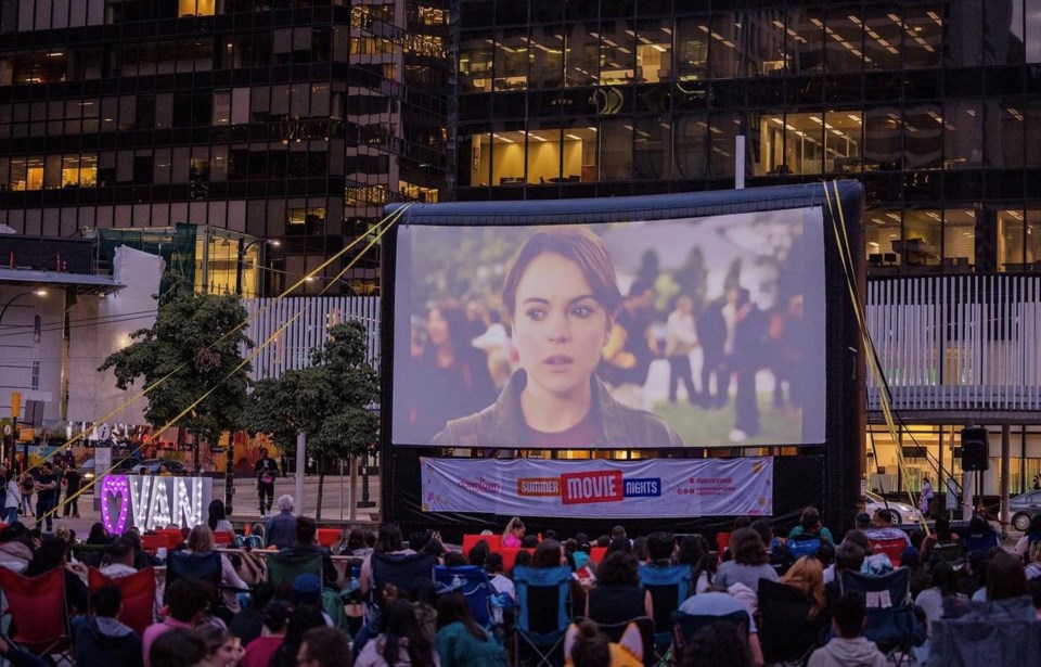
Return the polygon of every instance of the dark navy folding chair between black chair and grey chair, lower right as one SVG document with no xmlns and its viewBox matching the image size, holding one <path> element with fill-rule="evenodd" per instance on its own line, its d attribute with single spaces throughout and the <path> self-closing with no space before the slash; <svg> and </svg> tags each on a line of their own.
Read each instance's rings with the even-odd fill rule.
<svg viewBox="0 0 1041 667">
<path fill-rule="evenodd" d="M 843 594 L 852 592 L 864 600 L 868 610 L 862 634 L 897 665 L 910 655 L 912 645 L 925 641 L 925 629 L 914 617 L 910 582 L 907 567 L 878 576 L 844 569 L 839 582 Z"/>
</svg>

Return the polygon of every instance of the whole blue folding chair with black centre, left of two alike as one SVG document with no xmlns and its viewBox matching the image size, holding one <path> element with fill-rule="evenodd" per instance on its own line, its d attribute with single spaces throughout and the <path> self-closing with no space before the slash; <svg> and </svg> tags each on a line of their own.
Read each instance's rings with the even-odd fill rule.
<svg viewBox="0 0 1041 667">
<path fill-rule="evenodd" d="M 570 567 L 520 565 L 513 569 L 513 583 L 518 607 L 513 664 L 522 664 L 525 646 L 538 658 L 536 667 L 562 664 L 564 633 L 571 621 L 567 604 L 571 593 Z"/>
</svg>

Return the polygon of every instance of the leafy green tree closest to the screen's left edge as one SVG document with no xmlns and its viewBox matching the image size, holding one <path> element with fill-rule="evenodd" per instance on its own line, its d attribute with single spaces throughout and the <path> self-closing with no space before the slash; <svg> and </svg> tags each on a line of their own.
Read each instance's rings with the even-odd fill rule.
<svg viewBox="0 0 1041 667">
<path fill-rule="evenodd" d="M 324 464 L 361 456 L 378 437 L 380 420 L 369 408 L 380 398 L 380 383 L 365 360 L 367 338 L 359 322 L 330 328 L 308 368 L 256 383 L 243 413 L 243 428 L 269 434 L 287 452 L 298 433 L 307 435 L 308 453 L 319 463 L 316 518 L 322 517 Z"/>
</svg>

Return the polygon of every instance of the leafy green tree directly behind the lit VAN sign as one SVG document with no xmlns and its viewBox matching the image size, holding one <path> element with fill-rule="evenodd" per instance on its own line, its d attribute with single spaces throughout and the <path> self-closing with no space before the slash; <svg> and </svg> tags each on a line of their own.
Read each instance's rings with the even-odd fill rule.
<svg viewBox="0 0 1041 667">
<path fill-rule="evenodd" d="M 188 429 L 196 442 L 197 471 L 198 442 L 217 442 L 223 432 L 235 428 L 248 398 L 250 367 L 235 370 L 242 350 L 253 347 L 241 328 L 248 313 L 236 296 L 194 294 L 187 286 L 156 298 L 155 324 L 130 334 L 136 342 L 110 355 L 98 370 L 112 369 L 123 390 L 144 380 L 144 388 L 151 389 L 145 419 L 157 428 L 177 420 Z"/>
</svg>

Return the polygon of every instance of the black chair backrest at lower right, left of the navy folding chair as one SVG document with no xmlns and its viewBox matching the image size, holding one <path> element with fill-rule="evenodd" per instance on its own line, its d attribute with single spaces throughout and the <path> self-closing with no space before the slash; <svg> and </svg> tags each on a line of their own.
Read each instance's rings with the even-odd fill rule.
<svg viewBox="0 0 1041 667">
<path fill-rule="evenodd" d="M 759 579 L 759 643 L 767 663 L 795 660 L 817 644 L 819 624 L 809 620 L 810 601 L 795 588 Z"/>
</svg>

